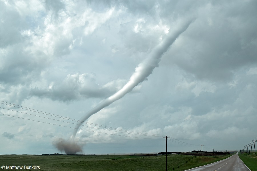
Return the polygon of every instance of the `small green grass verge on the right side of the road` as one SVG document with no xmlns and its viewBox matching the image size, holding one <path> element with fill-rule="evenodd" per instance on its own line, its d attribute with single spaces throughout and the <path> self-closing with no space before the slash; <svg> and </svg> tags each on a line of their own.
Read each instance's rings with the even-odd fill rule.
<svg viewBox="0 0 257 171">
<path fill-rule="evenodd" d="M 244 162 L 244 164 L 252 171 L 257 171 L 257 156 L 256 154 L 250 154 L 247 153 L 239 154 L 238 156 L 240 159 Z"/>
</svg>

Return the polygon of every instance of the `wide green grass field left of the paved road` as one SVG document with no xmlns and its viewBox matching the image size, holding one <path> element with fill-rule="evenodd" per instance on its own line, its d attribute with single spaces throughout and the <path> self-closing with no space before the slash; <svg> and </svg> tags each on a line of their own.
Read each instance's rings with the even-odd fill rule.
<svg viewBox="0 0 257 171">
<path fill-rule="evenodd" d="M 227 156 L 188 156 L 168 155 L 168 170 L 186 170 L 202 166 Z M 42 171 L 55 170 L 165 170 L 166 156 L 127 156 L 127 155 L 0 155 L 2 166 L 40 166 Z M 7 170 L 7 169 L 4 169 Z M 12 169 L 13 170 L 13 169 Z M 24 170 L 24 169 L 23 169 Z"/>
</svg>

